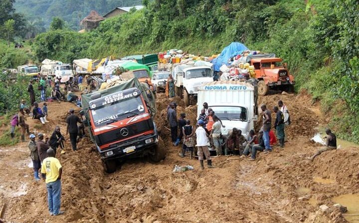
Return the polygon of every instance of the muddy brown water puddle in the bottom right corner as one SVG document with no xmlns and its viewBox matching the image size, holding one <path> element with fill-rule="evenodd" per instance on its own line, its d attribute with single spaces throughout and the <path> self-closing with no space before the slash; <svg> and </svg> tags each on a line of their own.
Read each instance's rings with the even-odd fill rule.
<svg viewBox="0 0 359 223">
<path fill-rule="evenodd" d="M 348 208 L 344 218 L 350 223 L 359 223 L 359 194 L 346 194 L 332 198 L 334 203 L 339 203 Z"/>
</svg>

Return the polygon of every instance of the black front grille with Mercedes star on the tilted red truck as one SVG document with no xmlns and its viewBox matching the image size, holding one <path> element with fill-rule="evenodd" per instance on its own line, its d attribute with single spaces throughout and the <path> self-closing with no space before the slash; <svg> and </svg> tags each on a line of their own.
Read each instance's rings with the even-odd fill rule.
<svg viewBox="0 0 359 223">
<path fill-rule="evenodd" d="M 127 131 L 124 131 L 125 129 L 127 129 Z M 95 136 L 95 140 L 97 142 L 98 146 L 102 146 L 114 141 L 119 141 L 122 139 L 126 139 L 129 137 L 132 137 L 134 135 L 138 135 L 141 134 L 143 132 L 149 131 L 149 130 L 153 130 L 154 129 L 154 125 L 152 122 L 152 119 L 146 120 L 146 121 L 142 121 L 133 125 L 129 125 L 123 128 L 118 128 L 116 130 L 110 131 L 110 132 L 106 132 L 106 133 L 102 133 L 98 136 Z M 122 130 L 122 131 L 121 131 Z M 123 133 L 127 133 L 123 134 Z"/>
</svg>

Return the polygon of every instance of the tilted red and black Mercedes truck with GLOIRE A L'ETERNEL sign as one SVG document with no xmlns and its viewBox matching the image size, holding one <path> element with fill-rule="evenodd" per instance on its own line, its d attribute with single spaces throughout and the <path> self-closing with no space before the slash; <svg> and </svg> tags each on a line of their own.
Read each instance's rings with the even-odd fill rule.
<svg viewBox="0 0 359 223">
<path fill-rule="evenodd" d="M 165 158 L 153 120 L 155 96 L 147 84 L 137 78 L 113 82 L 104 90 L 82 95 L 82 108 L 84 126 L 108 173 L 116 170 L 116 160 L 148 155 L 159 162 Z"/>
</svg>

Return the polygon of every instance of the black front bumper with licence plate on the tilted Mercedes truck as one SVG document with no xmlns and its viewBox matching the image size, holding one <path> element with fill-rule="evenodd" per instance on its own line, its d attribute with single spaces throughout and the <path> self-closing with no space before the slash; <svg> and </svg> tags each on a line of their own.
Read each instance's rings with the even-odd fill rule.
<svg viewBox="0 0 359 223">
<path fill-rule="evenodd" d="M 117 143 L 105 150 L 101 150 L 96 145 L 98 152 L 102 159 L 118 159 L 127 156 L 141 156 L 144 150 L 152 148 L 158 143 L 158 135 L 151 134 L 147 136 L 141 136 L 133 140 L 125 141 L 123 143 Z"/>
</svg>

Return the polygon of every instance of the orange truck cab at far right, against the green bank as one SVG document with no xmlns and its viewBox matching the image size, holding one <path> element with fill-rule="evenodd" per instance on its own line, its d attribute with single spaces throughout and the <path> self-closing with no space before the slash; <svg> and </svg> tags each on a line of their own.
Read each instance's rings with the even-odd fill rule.
<svg viewBox="0 0 359 223">
<path fill-rule="evenodd" d="M 251 58 L 250 65 L 254 66 L 255 78 L 258 80 L 258 94 L 266 95 L 269 89 L 294 91 L 294 77 L 278 57 Z"/>
</svg>

